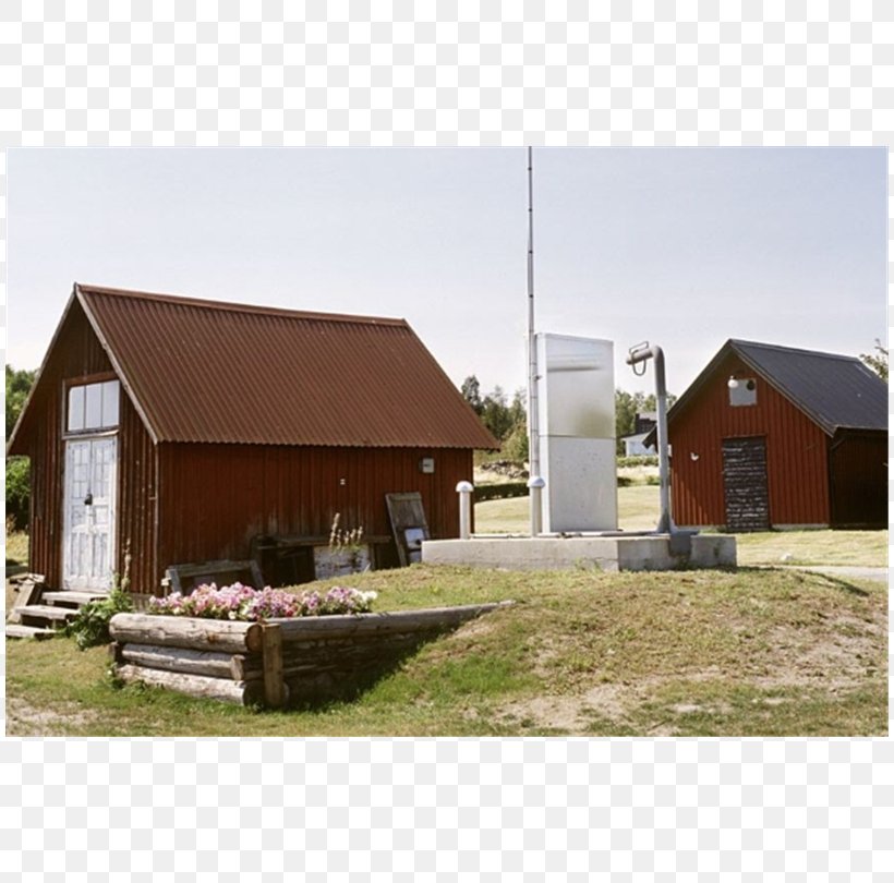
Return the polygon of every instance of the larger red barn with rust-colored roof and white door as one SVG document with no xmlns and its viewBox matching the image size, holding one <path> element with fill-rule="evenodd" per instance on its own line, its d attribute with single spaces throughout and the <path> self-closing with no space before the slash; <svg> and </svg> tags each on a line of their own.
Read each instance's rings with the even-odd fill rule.
<svg viewBox="0 0 894 883">
<path fill-rule="evenodd" d="M 396 564 L 385 495 L 456 536 L 495 445 L 402 319 L 75 285 L 8 452 L 31 458 L 33 571 L 101 591 L 129 553 L 157 593 L 173 564 L 325 543 L 337 512 Z"/>
</svg>

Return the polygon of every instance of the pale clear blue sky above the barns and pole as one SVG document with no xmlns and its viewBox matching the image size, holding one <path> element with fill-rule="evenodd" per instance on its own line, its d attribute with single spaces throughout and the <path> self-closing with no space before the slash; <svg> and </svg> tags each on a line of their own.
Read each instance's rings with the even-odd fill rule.
<svg viewBox="0 0 894 883">
<path fill-rule="evenodd" d="M 73 281 L 402 316 L 459 385 L 525 383 L 527 152 L 13 149 L 8 362 Z M 534 150 L 537 328 L 661 344 L 680 394 L 729 337 L 886 340 L 884 148 Z M 263 358 L 263 353 L 258 353 Z"/>
</svg>

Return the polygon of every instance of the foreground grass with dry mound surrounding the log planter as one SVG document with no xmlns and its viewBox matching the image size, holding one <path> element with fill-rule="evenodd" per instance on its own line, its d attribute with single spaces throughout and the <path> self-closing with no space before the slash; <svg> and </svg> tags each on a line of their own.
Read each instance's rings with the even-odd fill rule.
<svg viewBox="0 0 894 883">
<path fill-rule="evenodd" d="M 257 712 L 105 676 L 102 649 L 10 642 L 8 733 L 95 736 L 867 736 L 887 733 L 887 588 L 786 570 L 345 580 L 376 609 L 516 600 L 354 702 Z"/>
</svg>

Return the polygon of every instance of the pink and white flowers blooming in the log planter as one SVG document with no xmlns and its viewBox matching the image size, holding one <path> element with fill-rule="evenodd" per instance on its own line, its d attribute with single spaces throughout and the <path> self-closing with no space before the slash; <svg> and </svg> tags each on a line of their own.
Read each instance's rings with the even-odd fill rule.
<svg viewBox="0 0 894 883">
<path fill-rule="evenodd" d="M 149 598 L 149 613 L 169 616 L 197 616 L 205 619 L 255 621 L 294 616 L 331 616 L 369 613 L 375 592 L 335 585 L 325 593 L 316 590 L 293 594 L 282 589 L 252 589 L 234 582 L 218 589 L 215 583 L 200 585 L 191 594 L 174 592 L 164 598 Z"/>
</svg>

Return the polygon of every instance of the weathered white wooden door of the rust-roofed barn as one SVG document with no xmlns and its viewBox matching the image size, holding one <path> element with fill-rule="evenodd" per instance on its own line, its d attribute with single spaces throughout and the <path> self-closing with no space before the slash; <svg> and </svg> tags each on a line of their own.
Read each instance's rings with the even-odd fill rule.
<svg viewBox="0 0 894 883">
<path fill-rule="evenodd" d="M 105 592 L 111 588 L 117 475 L 114 436 L 65 443 L 65 589 Z"/>
</svg>

